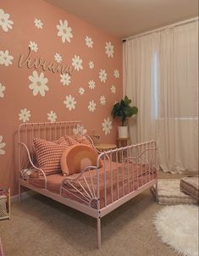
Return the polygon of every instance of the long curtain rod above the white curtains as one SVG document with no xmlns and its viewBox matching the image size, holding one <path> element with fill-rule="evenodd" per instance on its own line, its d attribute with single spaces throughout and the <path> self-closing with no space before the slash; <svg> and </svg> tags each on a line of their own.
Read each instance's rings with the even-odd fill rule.
<svg viewBox="0 0 199 256">
<path fill-rule="evenodd" d="M 165 29 L 173 28 L 173 27 L 176 27 L 176 26 L 189 24 L 189 23 L 192 23 L 192 22 L 195 22 L 195 21 L 198 21 L 198 16 L 195 17 L 195 18 L 192 18 L 192 19 L 185 19 L 183 21 L 180 21 L 180 22 L 177 22 L 177 23 L 174 23 L 174 24 L 171 24 L 171 25 L 165 25 L 161 28 L 158 28 L 158 29 L 155 29 L 155 30 L 152 30 L 152 31 L 146 31 L 144 33 L 141 33 L 141 34 L 138 34 L 138 35 L 135 35 L 135 36 L 125 37 L 125 38 L 123 38 L 122 42 L 126 42 L 128 40 L 135 39 L 135 38 L 140 37 L 140 36 L 146 36 L 146 35 L 149 35 L 149 34 L 152 34 L 152 33 L 155 33 L 155 32 L 159 32 L 159 31 L 163 31 Z"/>
</svg>

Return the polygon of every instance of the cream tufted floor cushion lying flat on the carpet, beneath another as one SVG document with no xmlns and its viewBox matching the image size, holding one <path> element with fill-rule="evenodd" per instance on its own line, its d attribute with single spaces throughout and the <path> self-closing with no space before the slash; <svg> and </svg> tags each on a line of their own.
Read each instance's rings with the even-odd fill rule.
<svg viewBox="0 0 199 256">
<path fill-rule="evenodd" d="M 180 179 L 158 179 L 151 192 L 159 204 L 197 203 L 195 198 L 180 191 Z"/>
</svg>

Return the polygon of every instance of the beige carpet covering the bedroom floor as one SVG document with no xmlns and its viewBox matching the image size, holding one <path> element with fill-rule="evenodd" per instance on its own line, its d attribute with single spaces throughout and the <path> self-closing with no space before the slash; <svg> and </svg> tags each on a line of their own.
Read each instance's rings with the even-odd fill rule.
<svg viewBox="0 0 199 256">
<path fill-rule="evenodd" d="M 175 256 L 152 224 L 162 208 L 147 190 L 103 217 L 97 250 L 97 220 L 36 195 L 12 204 L 11 220 L 0 222 L 0 237 L 6 256 Z"/>
</svg>

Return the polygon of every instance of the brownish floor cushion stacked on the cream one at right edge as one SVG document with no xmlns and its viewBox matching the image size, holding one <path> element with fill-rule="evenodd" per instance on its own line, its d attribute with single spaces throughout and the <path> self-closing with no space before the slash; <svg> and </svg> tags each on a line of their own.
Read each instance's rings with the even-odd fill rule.
<svg viewBox="0 0 199 256">
<path fill-rule="evenodd" d="M 180 179 L 180 189 L 199 201 L 199 177 L 184 177 Z"/>
</svg>

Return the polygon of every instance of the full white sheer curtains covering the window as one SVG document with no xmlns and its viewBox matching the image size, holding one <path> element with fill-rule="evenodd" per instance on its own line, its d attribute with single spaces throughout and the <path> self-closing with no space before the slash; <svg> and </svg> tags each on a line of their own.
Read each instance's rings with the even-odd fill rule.
<svg viewBox="0 0 199 256">
<path fill-rule="evenodd" d="M 198 171 L 198 22 L 124 43 L 124 95 L 139 113 L 134 142 L 155 139 L 163 171 Z"/>
</svg>

